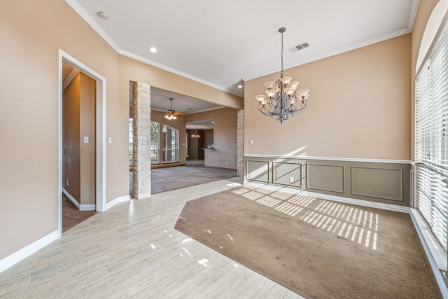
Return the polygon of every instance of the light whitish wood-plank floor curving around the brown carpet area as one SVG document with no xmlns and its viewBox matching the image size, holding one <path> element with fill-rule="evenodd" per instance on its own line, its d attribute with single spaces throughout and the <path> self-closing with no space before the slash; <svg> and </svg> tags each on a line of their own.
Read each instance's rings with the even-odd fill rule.
<svg viewBox="0 0 448 299">
<path fill-rule="evenodd" d="M 186 201 L 241 180 L 158 193 L 98 213 L 0 273 L 0 298 L 302 298 L 174 230 Z"/>
</svg>

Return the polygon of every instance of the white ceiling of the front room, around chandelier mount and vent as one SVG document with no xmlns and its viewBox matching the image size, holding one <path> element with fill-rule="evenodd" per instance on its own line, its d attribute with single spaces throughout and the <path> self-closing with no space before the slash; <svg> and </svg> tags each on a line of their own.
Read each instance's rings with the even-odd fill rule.
<svg viewBox="0 0 448 299">
<path fill-rule="evenodd" d="M 280 27 L 286 27 L 288 69 L 409 33 L 419 4 L 419 0 L 66 2 L 119 53 L 241 97 L 244 88 L 237 85 L 280 70 Z M 109 20 L 99 18 L 100 11 L 108 13 Z M 287 50 L 303 42 L 310 47 L 296 53 Z M 158 52 L 149 52 L 150 47 Z"/>
</svg>

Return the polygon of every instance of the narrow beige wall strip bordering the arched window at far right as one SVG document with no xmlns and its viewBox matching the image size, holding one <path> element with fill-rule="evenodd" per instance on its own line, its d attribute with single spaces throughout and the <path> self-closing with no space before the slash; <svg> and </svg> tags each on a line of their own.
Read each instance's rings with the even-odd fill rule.
<svg viewBox="0 0 448 299">
<path fill-rule="evenodd" d="M 411 158 L 414 160 L 414 127 L 415 127 L 415 72 L 416 72 L 416 62 L 419 55 L 419 49 L 421 44 L 421 38 L 423 37 L 423 32 L 426 28 L 426 23 L 433 11 L 433 8 L 438 3 L 438 0 L 426 0 L 419 2 L 419 10 L 417 11 L 414 28 L 412 29 L 412 42 L 411 42 L 411 126 L 409 130 L 411 131 Z"/>
</svg>

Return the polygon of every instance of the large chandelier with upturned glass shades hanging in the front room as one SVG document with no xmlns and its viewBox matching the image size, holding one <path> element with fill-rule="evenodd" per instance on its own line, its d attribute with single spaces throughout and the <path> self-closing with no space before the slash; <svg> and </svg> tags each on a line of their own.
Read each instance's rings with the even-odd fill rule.
<svg viewBox="0 0 448 299">
<path fill-rule="evenodd" d="M 289 116 L 304 111 L 307 108 L 309 96 L 309 90 L 296 90 L 300 84 L 299 81 L 293 81 L 291 77 L 283 77 L 283 33 L 285 31 L 285 27 L 279 29 L 281 33 L 280 78 L 275 82 L 265 83 L 267 97 L 265 95 L 255 96 L 255 99 L 258 100 L 258 111 L 271 118 L 275 116 L 280 123 L 283 123 L 283 120 L 288 120 Z"/>
</svg>

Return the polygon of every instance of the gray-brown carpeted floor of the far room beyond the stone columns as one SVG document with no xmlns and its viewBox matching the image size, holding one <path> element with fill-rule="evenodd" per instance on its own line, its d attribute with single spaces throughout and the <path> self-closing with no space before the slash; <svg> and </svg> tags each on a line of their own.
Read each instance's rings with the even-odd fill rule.
<svg viewBox="0 0 448 299">
<path fill-rule="evenodd" d="M 235 169 L 202 165 L 151 169 L 151 193 L 161 193 L 220 179 L 229 179 L 234 176 L 237 176 Z M 130 194 L 132 194 L 132 172 L 130 172 Z"/>
</svg>

